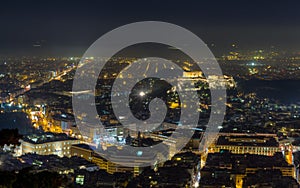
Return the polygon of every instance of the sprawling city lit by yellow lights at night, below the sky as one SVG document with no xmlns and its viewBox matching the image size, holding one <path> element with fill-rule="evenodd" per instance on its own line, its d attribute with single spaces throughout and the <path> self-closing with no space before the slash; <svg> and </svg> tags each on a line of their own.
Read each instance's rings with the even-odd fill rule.
<svg viewBox="0 0 300 188">
<path fill-rule="evenodd" d="M 193 78 L 201 91 L 199 129 L 180 153 L 175 153 L 176 148 L 169 140 L 166 146 L 168 160 L 147 168 L 114 164 L 94 151 L 99 135 L 81 135 L 71 102 L 72 80 L 79 57 L 2 59 L 1 170 L 8 176 L 3 185 L 12 185 L 15 178 L 23 181 L 18 179 L 20 173 L 49 173 L 55 182 L 74 187 L 244 187 L 260 184 L 298 187 L 300 104 L 269 98 L 263 92 L 247 92 L 239 84 L 253 80 L 274 82 L 281 77 L 297 80 L 300 64 L 293 54 L 263 52 L 239 53 L 241 59 L 232 57 L 238 52 L 229 52 L 219 58 L 226 74 L 227 112 L 223 125 L 219 127 L 218 138 L 204 153 L 199 152 L 199 143 L 210 112 L 207 80 L 215 87 L 220 83 L 214 82 L 214 79 L 218 80 L 214 77 L 205 79 L 201 71 L 185 71 L 182 78 Z M 261 58 L 257 59 L 252 53 L 259 53 Z M 135 59 L 118 57 L 111 61 L 126 65 Z M 280 67 L 271 66 L 270 61 L 289 63 Z M 177 62 L 186 69 L 192 67 L 188 61 Z M 107 70 L 116 68 L 107 67 Z M 114 77 L 109 71 L 100 77 L 101 84 L 96 93 L 98 107 L 102 110 L 99 113 L 101 121 L 106 125 L 101 145 L 112 149 L 126 144 L 147 147 L 166 140 L 178 125 L 176 111 L 180 109 L 172 88 L 167 87 L 165 99 L 170 112 L 162 128 L 151 134 L 136 134 L 119 124 L 108 105 L 109 97 L 104 97 L 106 91 L 101 86 L 109 85 Z M 138 94 L 146 95 L 149 88 L 145 83 L 144 86 L 141 84 L 136 90 L 142 88 L 144 93 Z M 153 84 L 166 87 L 155 85 L 158 84 L 155 80 Z M 147 95 L 151 100 L 151 95 Z M 141 108 L 134 112 L 147 116 L 146 109 Z M 174 171 L 178 172 L 176 176 L 172 173 Z"/>
</svg>

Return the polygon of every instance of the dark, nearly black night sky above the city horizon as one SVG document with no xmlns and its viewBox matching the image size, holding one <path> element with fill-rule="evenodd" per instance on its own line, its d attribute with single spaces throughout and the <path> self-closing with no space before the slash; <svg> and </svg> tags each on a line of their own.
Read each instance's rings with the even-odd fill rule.
<svg viewBox="0 0 300 188">
<path fill-rule="evenodd" d="M 297 0 L 2 1 L 0 56 L 80 56 L 104 33 L 146 20 L 185 27 L 214 43 L 213 52 L 232 43 L 300 51 L 299 7 Z"/>
</svg>

